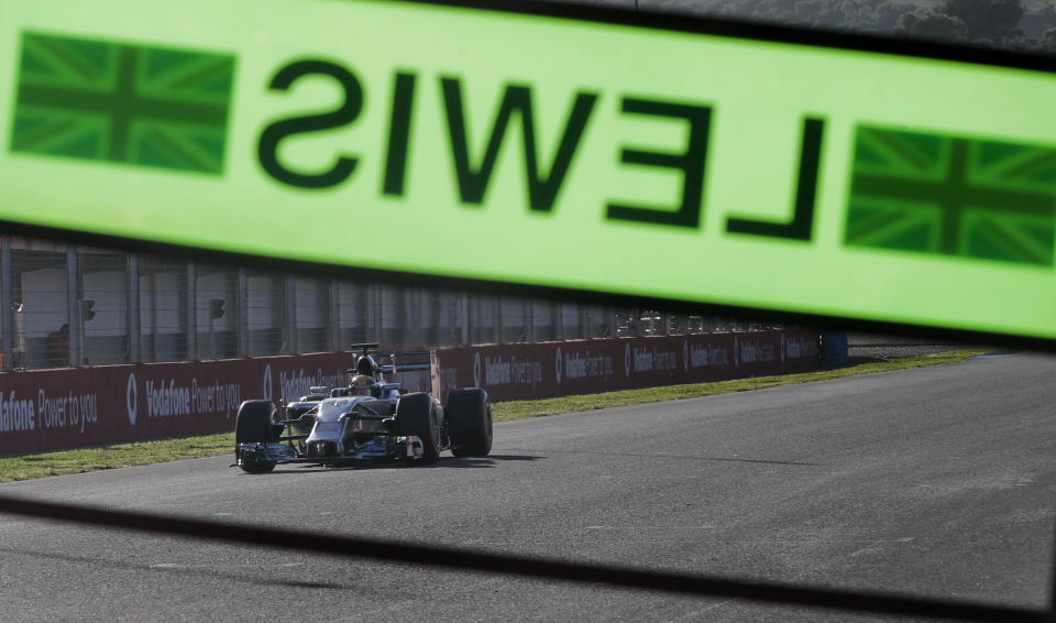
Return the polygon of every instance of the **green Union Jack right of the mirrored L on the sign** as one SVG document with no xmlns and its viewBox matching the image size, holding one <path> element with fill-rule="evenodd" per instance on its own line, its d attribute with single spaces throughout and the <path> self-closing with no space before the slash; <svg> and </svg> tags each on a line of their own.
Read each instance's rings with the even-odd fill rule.
<svg viewBox="0 0 1056 623">
<path fill-rule="evenodd" d="M 858 127 L 845 241 L 1053 264 L 1056 149 Z"/>
</svg>

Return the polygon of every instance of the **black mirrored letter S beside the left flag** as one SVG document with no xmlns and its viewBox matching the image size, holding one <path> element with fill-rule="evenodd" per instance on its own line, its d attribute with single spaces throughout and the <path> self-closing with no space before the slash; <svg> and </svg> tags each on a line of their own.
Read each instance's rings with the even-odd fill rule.
<svg viewBox="0 0 1056 623">
<path fill-rule="evenodd" d="M 312 74 L 329 76 L 337 80 L 344 90 L 344 102 L 331 112 L 283 119 L 264 128 L 257 155 L 264 171 L 283 184 L 300 188 L 328 188 L 348 179 L 355 170 L 359 159 L 341 155 L 324 173 L 297 173 L 278 162 L 278 143 L 294 134 L 330 130 L 355 121 L 363 109 L 363 88 L 349 69 L 336 63 L 315 59 L 296 61 L 286 65 L 275 74 L 268 88 L 285 91 L 298 78 Z"/>
</svg>

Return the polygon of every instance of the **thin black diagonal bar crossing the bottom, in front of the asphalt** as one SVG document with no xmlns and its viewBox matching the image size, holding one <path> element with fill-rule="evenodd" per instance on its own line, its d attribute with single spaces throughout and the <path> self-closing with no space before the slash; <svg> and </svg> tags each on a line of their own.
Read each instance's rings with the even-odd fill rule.
<svg viewBox="0 0 1056 623">
<path fill-rule="evenodd" d="M 327 535 L 304 539 L 289 528 L 224 524 L 191 517 L 135 511 L 117 511 L 82 504 L 38 502 L 0 495 L 0 513 L 75 523 L 105 529 L 123 529 L 155 535 L 250 545 L 254 548 L 296 549 L 302 555 L 322 555 L 425 567 L 504 573 L 549 581 L 564 580 L 583 584 L 647 589 L 701 597 L 748 599 L 784 605 L 826 608 L 858 613 L 965 621 L 1007 621 L 1050 623 L 1053 611 L 964 601 L 924 598 L 911 594 L 810 587 L 704 576 L 685 571 L 664 571 L 632 567 L 612 567 L 596 562 L 571 562 L 516 554 L 487 553 L 446 545 L 417 545 L 364 536 Z M 91 560 L 91 559 L 88 559 Z M 109 562 L 108 562 L 109 564 Z M 121 564 L 127 567 L 125 564 Z M 367 589 L 370 590 L 370 589 Z M 386 587 L 388 590 L 388 587 Z M 391 597 L 386 597 L 391 599 Z"/>
</svg>

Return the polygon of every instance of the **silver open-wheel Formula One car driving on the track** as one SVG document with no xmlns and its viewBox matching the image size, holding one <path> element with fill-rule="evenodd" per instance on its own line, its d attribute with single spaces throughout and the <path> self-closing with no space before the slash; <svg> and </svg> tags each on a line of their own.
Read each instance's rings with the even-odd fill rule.
<svg viewBox="0 0 1056 623">
<path fill-rule="evenodd" d="M 362 349 L 349 370 L 348 387 L 311 387 L 308 396 L 276 409 L 270 401 L 245 401 L 235 425 L 235 463 L 264 473 L 279 463 L 323 466 L 360 462 L 432 461 L 443 450 L 457 457 L 483 457 L 492 449 L 492 405 L 479 387 L 452 390 L 447 406 L 425 392 L 408 393 L 385 374 L 414 369 L 396 360 L 428 352 L 377 354 Z M 378 365 L 388 357 L 388 365 Z M 420 364 L 427 365 L 427 364 Z"/>
</svg>

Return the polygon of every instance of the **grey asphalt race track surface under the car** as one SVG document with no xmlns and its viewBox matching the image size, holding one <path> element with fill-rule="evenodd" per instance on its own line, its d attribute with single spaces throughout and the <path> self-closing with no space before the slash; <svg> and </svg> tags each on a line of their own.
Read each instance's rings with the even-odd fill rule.
<svg viewBox="0 0 1056 623">
<path fill-rule="evenodd" d="M 0 485 L 24 498 L 809 587 L 1043 609 L 1056 359 L 498 424 L 486 459 Z M 0 515 L 4 621 L 879 621 Z"/>
</svg>

